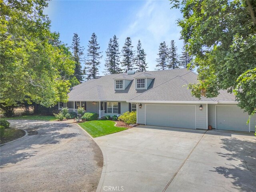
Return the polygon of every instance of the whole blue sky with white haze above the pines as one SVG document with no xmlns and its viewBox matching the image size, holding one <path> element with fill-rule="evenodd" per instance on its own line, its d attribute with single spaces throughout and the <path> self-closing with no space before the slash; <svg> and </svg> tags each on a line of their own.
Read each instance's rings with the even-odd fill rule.
<svg viewBox="0 0 256 192">
<path fill-rule="evenodd" d="M 174 40 L 180 54 L 182 40 L 176 22 L 182 18 L 176 9 L 170 9 L 168 0 L 53 0 L 44 13 L 52 21 L 51 30 L 60 32 L 60 40 L 71 46 L 73 33 L 78 33 L 86 55 L 88 40 L 93 32 L 98 37 L 103 58 L 100 75 L 104 71 L 105 51 L 114 35 L 119 39 L 120 51 L 126 37 L 132 39 L 134 50 L 140 39 L 148 62 L 148 70 L 154 70 L 160 42 Z M 83 64 L 84 67 L 84 64 Z"/>
</svg>

